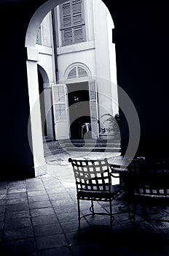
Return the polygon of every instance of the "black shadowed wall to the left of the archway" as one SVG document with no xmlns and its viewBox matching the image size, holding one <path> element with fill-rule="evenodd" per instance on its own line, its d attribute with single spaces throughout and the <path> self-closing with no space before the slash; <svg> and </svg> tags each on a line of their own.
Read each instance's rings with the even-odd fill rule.
<svg viewBox="0 0 169 256">
<path fill-rule="evenodd" d="M 1 178 L 34 177 L 34 159 L 28 141 L 25 34 L 38 3 L 0 2 Z"/>
</svg>

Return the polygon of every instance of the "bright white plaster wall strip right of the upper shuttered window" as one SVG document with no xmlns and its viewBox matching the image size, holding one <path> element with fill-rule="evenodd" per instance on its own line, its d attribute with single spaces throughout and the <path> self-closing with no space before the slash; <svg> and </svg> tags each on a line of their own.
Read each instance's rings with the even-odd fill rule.
<svg viewBox="0 0 169 256">
<path fill-rule="evenodd" d="M 117 97 L 115 46 L 112 44 L 114 24 L 106 5 L 102 1 L 93 1 L 93 25 L 99 116 L 101 117 L 104 113 L 117 113 L 112 102 L 112 97 L 115 94 Z M 112 81 L 115 82 L 114 88 Z"/>
</svg>

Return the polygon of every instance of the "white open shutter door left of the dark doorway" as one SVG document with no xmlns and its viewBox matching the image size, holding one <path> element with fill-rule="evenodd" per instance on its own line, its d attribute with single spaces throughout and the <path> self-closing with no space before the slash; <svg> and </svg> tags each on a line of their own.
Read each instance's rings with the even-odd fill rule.
<svg viewBox="0 0 169 256">
<path fill-rule="evenodd" d="M 66 85 L 52 85 L 52 103 L 55 121 L 55 139 L 68 139 L 68 103 Z"/>
</svg>

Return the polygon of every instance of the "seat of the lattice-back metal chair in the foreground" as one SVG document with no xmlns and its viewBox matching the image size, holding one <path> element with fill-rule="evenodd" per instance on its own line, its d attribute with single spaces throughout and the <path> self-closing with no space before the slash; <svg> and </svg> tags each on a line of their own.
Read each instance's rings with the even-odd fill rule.
<svg viewBox="0 0 169 256">
<path fill-rule="evenodd" d="M 96 192 L 93 191 L 87 191 L 87 190 L 79 190 L 77 192 L 77 198 L 81 200 L 114 200 L 117 196 L 119 196 L 123 192 L 123 189 L 119 186 L 119 184 L 112 185 L 111 186 L 111 193 L 107 192 Z"/>
</svg>

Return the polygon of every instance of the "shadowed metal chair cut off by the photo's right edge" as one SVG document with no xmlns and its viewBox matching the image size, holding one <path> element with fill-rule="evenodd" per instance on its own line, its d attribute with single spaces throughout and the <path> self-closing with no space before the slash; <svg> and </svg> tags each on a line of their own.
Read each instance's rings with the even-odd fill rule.
<svg viewBox="0 0 169 256">
<path fill-rule="evenodd" d="M 169 206 L 168 179 L 168 161 L 147 163 L 133 171 L 133 224 L 138 204 L 143 208 L 144 219 L 146 206 Z"/>
</svg>

